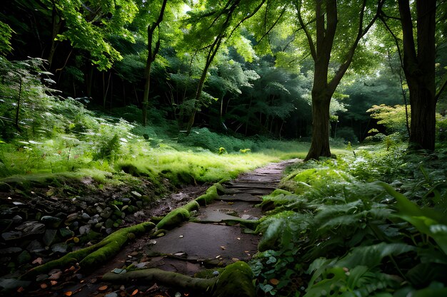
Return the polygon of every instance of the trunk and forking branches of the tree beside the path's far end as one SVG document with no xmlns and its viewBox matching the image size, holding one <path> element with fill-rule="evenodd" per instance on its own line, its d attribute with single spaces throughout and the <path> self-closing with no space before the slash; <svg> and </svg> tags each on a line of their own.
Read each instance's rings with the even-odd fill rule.
<svg viewBox="0 0 447 297">
<path fill-rule="evenodd" d="M 328 70 L 333 50 L 333 41 L 336 36 L 338 25 L 338 9 L 336 0 L 317 0 L 316 1 L 316 41 L 313 41 L 307 24 L 304 23 L 301 16 L 301 1 L 296 2 L 298 9 L 298 21 L 303 28 L 311 56 L 314 63 L 313 86 L 312 86 L 312 140 L 311 148 L 305 160 L 316 159 L 319 157 L 330 157 L 331 149 L 329 146 L 329 106 L 331 98 L 343 75 L 348 70 L 353 60 L 354 53 L 361 38 L 368 32 L 378 18 L 379 11 L 384 0 L 377 1 L 376 14 L 368 21 L 363 28 L 363 17 L 366 11 L 366 0 L 363 1 L 358 19 L 358 29 L 355 39 L 346 51 L 346 59 L 329 80 Z"/>
</svg>

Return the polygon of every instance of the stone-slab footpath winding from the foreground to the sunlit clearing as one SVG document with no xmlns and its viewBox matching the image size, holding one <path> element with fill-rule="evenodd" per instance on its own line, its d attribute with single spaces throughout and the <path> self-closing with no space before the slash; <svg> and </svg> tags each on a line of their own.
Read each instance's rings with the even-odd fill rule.
<svg viewBox="0 0 447 297">
<path fill-rule="evenodd" d="M 223 221 L 235 217 L 247 220 L 261 217 L 261 209 L 255 205 L 262 202 L 263 195 L 278 187 L 283 170 L 294 162 L 297 160 L 271 163 L 222 184 L 224 193 L 211 204 L 201 207 L 194 214 L 194 222 L 185 222 L 161 237 L 141 236 L 107 264 L 53 296 L 63 296 L 67 292 L 79 297 L 188 296 L 188 292 L 177 292 L 152 283 L 106 283 L 101 281 L 101 276 L 109 271 L 120 273 L 129 265 L 194 276 L 206 269 L 222 268 L 239 260 L 249 261 L 257 252 L 260 236 L 243 233 L 239 224 L 228 226 Z"/>
</svg>

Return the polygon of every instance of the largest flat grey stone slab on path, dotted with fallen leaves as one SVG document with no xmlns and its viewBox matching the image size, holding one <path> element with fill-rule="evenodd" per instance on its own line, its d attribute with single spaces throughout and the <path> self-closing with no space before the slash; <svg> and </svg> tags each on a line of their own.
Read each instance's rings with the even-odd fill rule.
<svg viewBox="0 0 447 297">
<path fill-rule="evenodd" d="M 155 239 L 147 254 L 179 254 L 194 261 L 217 259 L 248 261 L 256 253 L 259 238 L 243 234 L 239 226 L 186 223 Z M 184 264 L 183 264 L 184 265 Z M 183 269 L 183 267 L 179 268 Z"/>
</svg>

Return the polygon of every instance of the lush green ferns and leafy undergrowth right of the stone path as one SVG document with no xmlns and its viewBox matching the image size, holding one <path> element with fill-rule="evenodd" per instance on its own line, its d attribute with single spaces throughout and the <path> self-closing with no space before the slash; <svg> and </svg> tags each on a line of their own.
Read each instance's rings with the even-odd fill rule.
<svg viewBox="0 0 447 297">
<path fill-rule="evenodd" d="M 445 152 L 362 147 L 289 169 L 287 191 L 263 199 L 274 209 L 251 262 L 258 289 L 267 296 L 447 296 Z"/>
</svg>

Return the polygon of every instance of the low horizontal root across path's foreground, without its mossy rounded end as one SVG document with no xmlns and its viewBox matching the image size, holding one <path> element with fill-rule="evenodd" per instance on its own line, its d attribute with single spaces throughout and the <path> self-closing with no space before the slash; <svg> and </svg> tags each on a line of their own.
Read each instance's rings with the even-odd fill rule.
<svg viewBox="0 0 447 297">
<path fill-rule="evenodd" d="M 108 272 L 102 277 L 102 281 L 111 283 L 126 283 L 129 281 L 142 282 L 156 282 L 165 286 L 174 288 L 184 288 L 195 292 L 211 292 L 216 283 L 216 278 L 193 278 L 191 276 L 184 276 L 181 273 L 163 271 L 161 269 L 141 269 L 136 271 L 129 271 L 126 273 L 116 274 Z"/>
</svg>

